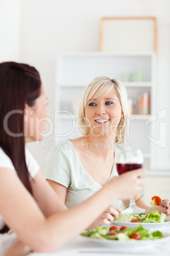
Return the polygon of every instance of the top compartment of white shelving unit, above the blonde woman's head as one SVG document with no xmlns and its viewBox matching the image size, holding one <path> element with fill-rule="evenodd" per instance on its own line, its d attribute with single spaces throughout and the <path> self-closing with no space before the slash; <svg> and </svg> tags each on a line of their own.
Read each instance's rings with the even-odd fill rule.
<svg viewBox="0 0 170 256">
<path fill-rule="evenodd" d="M 150 87 L 154 53 L 83 52 L 58 55 L 56 83 L 60 87 L 88 85 L 93 78 L 108 76 L 123 82 L 124 73 L 143 73 L 143 82 L 128 82 L 127 86 Z"/>
</svg>

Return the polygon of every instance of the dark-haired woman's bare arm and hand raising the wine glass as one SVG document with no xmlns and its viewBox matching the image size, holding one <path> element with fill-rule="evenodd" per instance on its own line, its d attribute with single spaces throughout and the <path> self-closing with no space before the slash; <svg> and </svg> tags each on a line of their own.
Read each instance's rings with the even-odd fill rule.
<svg viewBox="0 0 170 256">
<path fill-rule="evenodd" d="M 37 252 L 53 252 L 82 232 L 113 201 L 134 196 L 144 182 L 145 170 L 115 177 L 83 203 L 45 218 L 18 176 L 0 168 L 0 213 L 23 243 Z"/>
</svg>

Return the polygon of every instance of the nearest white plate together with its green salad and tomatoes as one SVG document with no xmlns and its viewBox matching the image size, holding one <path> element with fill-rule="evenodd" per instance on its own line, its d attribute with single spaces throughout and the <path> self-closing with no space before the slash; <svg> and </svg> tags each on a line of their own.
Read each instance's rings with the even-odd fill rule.
<svg viewBox="0 0 170 256">
<path fill-rule="evenodd" d="M 135 235 L 135 236 L 134 236 Z M 92 243 L 98 243 L 101 246 L 107 246 L 112 248 L 136 247 L 138 250 L 143 246 L 155 247 L 158 243 L 169 243 L 170 234 L 160 231 L 150 231 L 143 228 L 140 224 L 135 228 L 110 226 L 96 227 L 93 231 L 86 231 L 81 234 L 84 239 L 91 241 Z M 141 250 L 141 249 L 140 249 Z"/>
</svg>

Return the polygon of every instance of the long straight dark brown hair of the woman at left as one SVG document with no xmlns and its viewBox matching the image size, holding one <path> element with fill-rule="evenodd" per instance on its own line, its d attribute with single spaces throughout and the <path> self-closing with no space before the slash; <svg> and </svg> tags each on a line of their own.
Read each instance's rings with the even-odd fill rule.
<svg viewBox="0 0 170 256">
<path fill-rule="evenodd" d="M 41 78 L 32 66 L 16 62 L 0 64 L 0 147 L 10 157 L 16 173 L 30 194 L 29 171 L 25 161 L 24 108 L 34 106 L 41 94 Z M 7 127 L 4 124 L 8 117 Z M 5 226 L 0 233 L 7 232 Z"/>
</svg>

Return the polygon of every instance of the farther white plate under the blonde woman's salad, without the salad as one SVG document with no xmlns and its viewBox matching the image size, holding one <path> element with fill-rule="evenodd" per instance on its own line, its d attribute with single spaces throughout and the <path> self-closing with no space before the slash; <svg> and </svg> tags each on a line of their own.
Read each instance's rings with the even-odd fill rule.
<svg viewBox="0 0 170 256">
<path fill-rule="evenodd" d="M 112 222 L 112 225 L 118 226 L 127 226 L 127 227 L 137 227 L 137 225 L 141 225 L 144 229 L 162 229 L 167 227 L 170 222 L 157 222 L 157 223 L 144 223 L 144 222 Z"/>
</svg>

